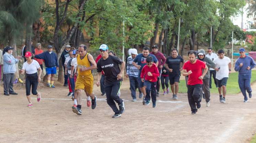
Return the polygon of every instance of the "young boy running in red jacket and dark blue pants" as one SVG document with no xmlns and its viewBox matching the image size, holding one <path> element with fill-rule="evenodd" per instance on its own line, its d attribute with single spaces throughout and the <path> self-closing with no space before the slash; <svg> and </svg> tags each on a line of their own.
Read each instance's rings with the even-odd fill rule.
<svg viewBox="0 0 256 143">
<path fill-rule="evenodd" d="M 156 107 L 156 82 L 157 77 L 160 75 L 155 63 L 153 63 L 153 57 L 148 56 L 146 58 L 147 65 L 143 67 L 141 71 L 141 81 L 144 82 L 146 89 L 146 97 L 143 100 L 143 105 L 148 105 L 150 101 L 150 92 L 153 103 L 153 108 Z"/>
</svg>

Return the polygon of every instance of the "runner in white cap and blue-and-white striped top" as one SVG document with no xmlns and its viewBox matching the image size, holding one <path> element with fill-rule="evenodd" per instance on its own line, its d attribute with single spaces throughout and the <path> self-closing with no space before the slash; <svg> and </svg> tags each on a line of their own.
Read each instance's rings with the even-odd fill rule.
<svg viewBox="0 0 256 143">
<path fill-rule="evenodd" d="M 129 49 L 130 50 L 130 49 Z M 130 81 L 130 88 L 131 88 L 131 95 L 132 95 L 132 101 L 135 102 L 137 101 L 136 99 L 136 85 L 139 83 L 138 82 L 138 73 L 139 70 L 133 66 L 132 62 L 135 59 L 135 57 L 138 55 L 137 49 L 131 49 L 131 56 L 127 58 L 127 63 L 126 63 L 126 77 L 129 77 Z M 139 98 L 142 98 L 143 94 L 139 88 Z"/>
</svg>

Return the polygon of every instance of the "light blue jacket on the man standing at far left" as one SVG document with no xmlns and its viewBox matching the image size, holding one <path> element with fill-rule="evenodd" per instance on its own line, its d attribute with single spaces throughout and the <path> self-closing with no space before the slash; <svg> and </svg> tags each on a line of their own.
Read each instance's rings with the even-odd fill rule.
<svg viewBox="0 0 256 143">
<path fill-rule="evenodd" d="M 3 55 L 3 74 L 7 73 L 15 73 L 16 72 L 16 63 L 18 63 L 19 60 L 14 58 L 13 55 L 9 53 L 5 53 Z"/>
</svg>

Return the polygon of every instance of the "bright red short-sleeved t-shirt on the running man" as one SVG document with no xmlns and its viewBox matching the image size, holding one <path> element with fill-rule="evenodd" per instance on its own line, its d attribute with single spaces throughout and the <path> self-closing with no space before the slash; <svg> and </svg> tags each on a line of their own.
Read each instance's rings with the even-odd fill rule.
<svg viewBox="0 0 256 143">
<path fill-rule="evenodd" d="M 200 60 L 197 60 L 196 63 L 191 63 L 190 61 L 184 63 L 183 69 L 187 70 L 187 72 L 192 71 L 192 73 L 188 75 L 188 85 L 203 84 L 203 80 L 199 80 L 199 76 L 202 75 L 204 68 L 205 63 Z"/>
</svg>

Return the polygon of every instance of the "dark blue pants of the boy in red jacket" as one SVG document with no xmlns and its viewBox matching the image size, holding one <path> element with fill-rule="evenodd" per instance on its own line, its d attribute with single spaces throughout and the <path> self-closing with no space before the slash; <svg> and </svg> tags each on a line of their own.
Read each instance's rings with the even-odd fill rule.
<svg viewBox="0 0 256 143">
<path fill-rule="evenodd" d="M 156 103 L 156 82 L 144 81 L 144 86 L 146 86 L 145 100 L 146 101 L 150 100 L 150 93 L 151 93 L 152 102 Z"/>
</svg>

